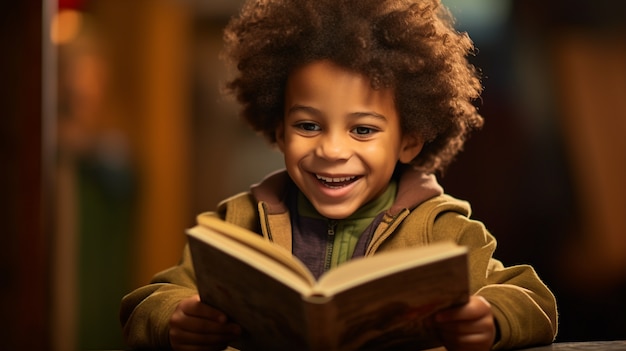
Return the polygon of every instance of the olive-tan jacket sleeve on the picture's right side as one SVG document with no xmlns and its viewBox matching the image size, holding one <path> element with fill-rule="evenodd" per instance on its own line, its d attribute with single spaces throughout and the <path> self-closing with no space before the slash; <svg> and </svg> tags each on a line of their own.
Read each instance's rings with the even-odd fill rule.
<svg viewBox="0 0 626 351">
<path fill-rule="evenodd" d="M 554 295 L 531 266 L 505 267 L 493 258 L 496 240 L 483 223 L 459 212 L 443 212 L 434 221 L 431 239 L 452 239 L 469 248 L 470 290 L 489 301 L 499 328 L 494 349 L 554 341 L 558 319 Z"/>
</svg>

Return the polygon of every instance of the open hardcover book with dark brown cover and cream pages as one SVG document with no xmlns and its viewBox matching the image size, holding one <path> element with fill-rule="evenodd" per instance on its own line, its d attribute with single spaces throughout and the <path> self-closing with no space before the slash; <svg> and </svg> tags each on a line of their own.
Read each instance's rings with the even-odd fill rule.
<svg viewBox="0 0 626 351">
<path fill-rule="evenodd" d="M 200 297 L 242 326 L 242 349 L 431 348 L 427 317 L 469 298 L 467 249 L 454 243 L 353 259 L 316 281 L 289 251 L 218 218 L 187 235 Z"/>
</svg>

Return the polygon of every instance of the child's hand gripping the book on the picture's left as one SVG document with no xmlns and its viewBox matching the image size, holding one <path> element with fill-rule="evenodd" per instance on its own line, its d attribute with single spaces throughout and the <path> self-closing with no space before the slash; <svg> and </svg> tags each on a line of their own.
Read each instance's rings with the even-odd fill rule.
<svg viewBox="0 0 626 351">
<path fill-rule="evenodd" d="M 239 325 L 198 295 L 182 300 L 170 317 L 170 345 L 177 351 L 223 350 L 240 334 Z"/>
</svg>

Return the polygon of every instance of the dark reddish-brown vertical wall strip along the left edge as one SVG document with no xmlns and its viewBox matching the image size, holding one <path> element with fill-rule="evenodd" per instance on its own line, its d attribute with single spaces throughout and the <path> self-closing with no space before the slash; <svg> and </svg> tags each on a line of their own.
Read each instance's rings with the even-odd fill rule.
<svg viewBox="0 0 626 351">
<path fill-rule="evenodd" d="M 0 15 L 0 340 L 6 350 L 47 349 L 41 43 L 41 2 L 6 3 Z"/>
</svg>

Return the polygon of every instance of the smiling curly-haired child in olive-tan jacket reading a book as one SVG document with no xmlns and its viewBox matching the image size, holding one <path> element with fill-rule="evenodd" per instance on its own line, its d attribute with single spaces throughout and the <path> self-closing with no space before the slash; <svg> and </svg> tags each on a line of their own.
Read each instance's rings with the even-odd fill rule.
<svg viewBox="0 0 626 351">
<path fill-rule="evenodd" d="M 470 249 L 472 297 L 433 317 L 442 345 L 553 341 L 552 293 L 531 267 L 494 259 L 495 239 L 434 176 L 482 125 L 473 45 L 439 0 L 251 0 L 225 42 L 239 70 L 228 87 L 286 170 L 215 216 L 288 248 L 317 276 L 354 257 L 454 240 Z M 200 302 L 187 249 L 124 297 L 121 320 L 132 347 L 220 350 L 241 333 Z"/>
</svg>

